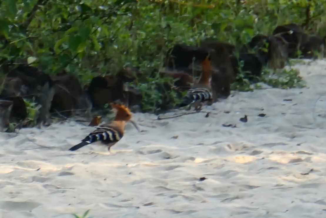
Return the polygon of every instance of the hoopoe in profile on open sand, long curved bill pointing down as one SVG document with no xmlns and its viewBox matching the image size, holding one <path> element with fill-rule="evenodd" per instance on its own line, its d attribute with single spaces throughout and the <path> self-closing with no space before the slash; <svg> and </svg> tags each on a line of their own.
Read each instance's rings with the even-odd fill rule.
<svg viewBox="0 0 326 218">
<path fill-rule="evenodd" d="M 131 112 L 126 106 L 117 103 L 111 103 L 110 105 L 112 109 L 116 109 L 114 120 L 111 123 L 97 127 L 79 144 L 71 147 L 69 151 L 75 151 L 96 141 L 101 141 L 102 143 L 107 144 L 109 146 L 108 150 L 110 151 L 110 148 L 124 136 L 124 129 L 127 121 L 130 121 L 135 128 L 140 131 L 136 123 L 131 120 Z"/>
</svg>

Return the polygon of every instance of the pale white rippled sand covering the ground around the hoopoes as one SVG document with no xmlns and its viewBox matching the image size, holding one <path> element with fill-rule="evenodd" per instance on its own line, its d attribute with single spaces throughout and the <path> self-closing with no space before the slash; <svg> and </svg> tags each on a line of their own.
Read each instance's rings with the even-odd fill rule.
<svg viewBox="0 0 326 218">
<path fill-rule="evenodd" d="M 1 133 L 0 217 L 326 217 L 326 60 L 296 67 L 309 88 L 234 92 L 208 118 L 135 114 L 146 131 L 126 126 L 114 154 L 67 151 L 93 130 L 72 121 Z"/>
</svg>

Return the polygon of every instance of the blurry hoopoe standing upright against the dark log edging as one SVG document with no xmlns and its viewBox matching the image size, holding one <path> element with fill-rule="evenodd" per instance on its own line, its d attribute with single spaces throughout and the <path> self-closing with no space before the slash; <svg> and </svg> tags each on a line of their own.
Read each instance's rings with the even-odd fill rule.
<svg viewBox="0 0 326 218">
<path fill-rule="evenodd" d="M 213 100 L 213 93 L 211 87 L 212 66 L 209 60 L 209 55 L 201 62 L 201 76 L 195 82 L 191 89 L 188 90 L 180 107 L 194 106 L 196 110 L 200 110 L 202 102 Z M 199 108 L 198 108 L 199 107 Z"/>
</svg>

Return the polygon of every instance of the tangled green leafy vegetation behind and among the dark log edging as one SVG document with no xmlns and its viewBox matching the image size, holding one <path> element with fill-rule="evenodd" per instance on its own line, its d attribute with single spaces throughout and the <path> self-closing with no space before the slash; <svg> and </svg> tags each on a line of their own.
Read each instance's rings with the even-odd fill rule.
<svg viewBox="0 0 326 218">
<path fill-rule="evenodd" d="M 28 59 L 48 74 L 65 69 L 83 84 L 128 66 L 150 75 L 178 42 L 212 37 L 241 46 L 285 23 L 325 36 L 325 8 L 317 0 L 2 0 L 0 65 Z M 283 73 L 263 82 L 292 88 L 301 80 L 292 69 Z M 142 95 L 151 97 L 143 103 L 147 110 L 160 101 L 153 84 L 166 82 L 161 80 L 136 80 Z M 250 90 L 246 83 L 233 89 Z"/>
</svg>

